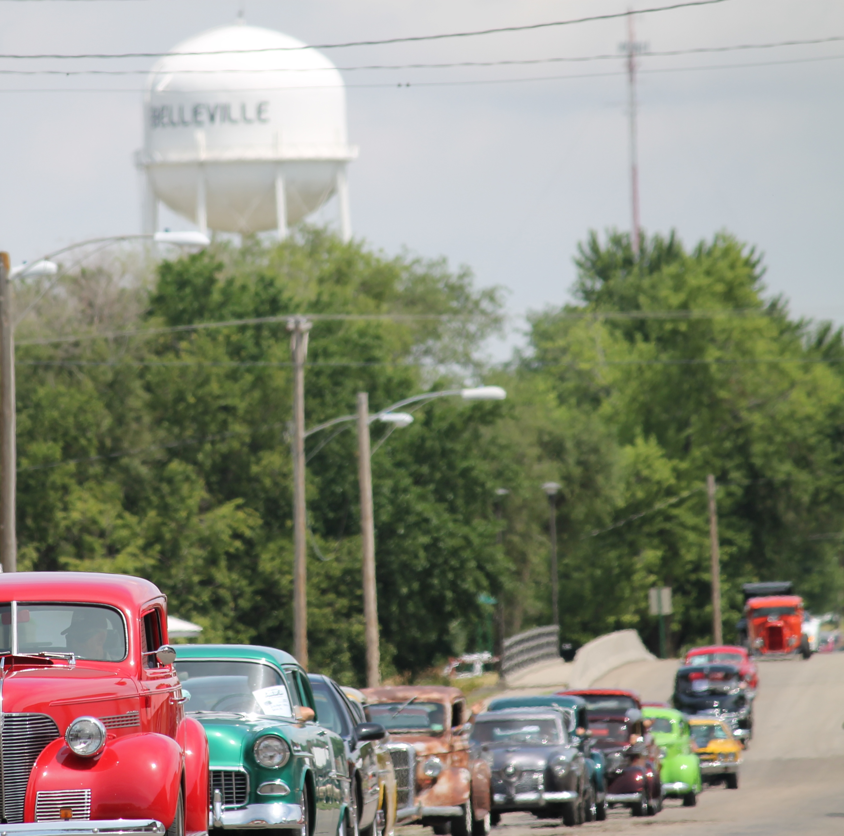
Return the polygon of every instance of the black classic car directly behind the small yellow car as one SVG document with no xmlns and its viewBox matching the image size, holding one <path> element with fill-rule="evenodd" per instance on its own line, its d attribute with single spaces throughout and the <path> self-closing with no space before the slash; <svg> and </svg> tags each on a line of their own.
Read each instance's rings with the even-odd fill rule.
<svg viewBox="0 0 844 836">
<path fill-rule="evenodd" d="M 753 692 L 735 665 L 686 665 L 674 679 L 674 708 L 726 720 L 741 741 L 753 736 Z"/>
</svg>

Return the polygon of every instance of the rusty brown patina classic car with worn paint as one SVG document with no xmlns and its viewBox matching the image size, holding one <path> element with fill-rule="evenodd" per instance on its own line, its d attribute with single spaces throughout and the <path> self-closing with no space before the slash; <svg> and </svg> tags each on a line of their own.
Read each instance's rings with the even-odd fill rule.
<svg viewBox="0 0 844 836">
<path fill-rule="evenodd" d="M 469 709 L 459 688 L 365 688 L 367 714 L 390 732 L 398 822 L 434 833 L 486 836 L 490 765 L 469 739 Z"/>
</svg>

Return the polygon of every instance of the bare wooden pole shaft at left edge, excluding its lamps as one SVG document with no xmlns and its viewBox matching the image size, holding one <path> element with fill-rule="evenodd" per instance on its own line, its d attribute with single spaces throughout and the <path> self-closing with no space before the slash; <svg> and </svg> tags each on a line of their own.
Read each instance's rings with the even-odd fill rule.
<svg viewBox="0 0 844 836">
<path fill-rule="evenodd" d="M 15 533 L 17 448 L 14 404 L 14 321 L 8 252 L 0 252 L 0 560 L 3 572 L 18 569 Z"/>
</svg>

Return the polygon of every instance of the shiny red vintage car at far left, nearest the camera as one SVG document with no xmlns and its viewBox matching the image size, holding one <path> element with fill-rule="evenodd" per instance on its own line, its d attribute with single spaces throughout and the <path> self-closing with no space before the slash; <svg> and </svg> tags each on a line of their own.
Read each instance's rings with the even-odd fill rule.
<svg viewBox="0 0 844 836">
<path fill-rule="evenodd" d="M 3 829 L 207 833 L 208 740 L 185 717 L 175 659 L 148 581 L 0 574 Z"/>
</svg>

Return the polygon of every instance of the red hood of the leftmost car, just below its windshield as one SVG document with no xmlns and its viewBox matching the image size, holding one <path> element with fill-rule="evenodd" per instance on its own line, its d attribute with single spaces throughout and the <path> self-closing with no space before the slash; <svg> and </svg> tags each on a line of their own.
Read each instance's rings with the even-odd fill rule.
<svg viewBox="0 0 844 836">
<path fill-rule="evenodd" d="M 77 662 L 21 667 L 3 679 L 3 711 L 49 714 L 62 730 L 62 718 L 95 717 L 138 711 L 138 687 L 119 670 L 86 667 Z"/>
</svg>

